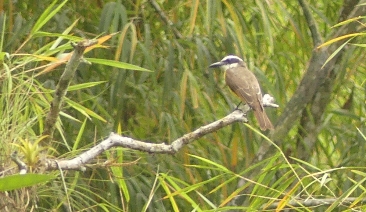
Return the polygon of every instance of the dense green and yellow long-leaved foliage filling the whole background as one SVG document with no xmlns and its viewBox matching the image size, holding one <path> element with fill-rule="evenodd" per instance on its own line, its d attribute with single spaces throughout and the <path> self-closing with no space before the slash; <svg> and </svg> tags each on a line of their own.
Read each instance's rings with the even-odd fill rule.
<svg viewBox="0 0 366 212">
<path fill-rule="evenodd" d="M 272 132 L 250 113 L 174 156 L 113 148 L 85 172 L 0 192 L 0 211 L 366 210 L 363 3 L 0 0 L 0 178 L 19 172 L 14 151 L 28 172 L 60 176 L 42 159 L 111 132 L 169 144 L 224 117 L 239 99 L 208 66 L 228 54 L 280 105 L 266 108 Z M 80 63 L 46 142 L 62 59 L 84 38 L 100 41 L 86 60 L 107 62 Z"/>
</svg>

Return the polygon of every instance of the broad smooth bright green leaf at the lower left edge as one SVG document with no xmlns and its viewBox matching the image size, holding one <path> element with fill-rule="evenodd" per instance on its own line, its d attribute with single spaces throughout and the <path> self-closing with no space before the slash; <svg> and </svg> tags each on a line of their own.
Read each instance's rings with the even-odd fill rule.
<svg viewBox="0 0 366 212">
<path fill-rule="evenodd" d="M 29 187 L 37 185 L 38 183 L 47 182 L 55 178 L 56 176 L 54 175 L 33 174 L 33 173 L 5 176 L 4 178 L 0 178 L 0 191 L 11 191 L 14 189 Z"/>
</svg>

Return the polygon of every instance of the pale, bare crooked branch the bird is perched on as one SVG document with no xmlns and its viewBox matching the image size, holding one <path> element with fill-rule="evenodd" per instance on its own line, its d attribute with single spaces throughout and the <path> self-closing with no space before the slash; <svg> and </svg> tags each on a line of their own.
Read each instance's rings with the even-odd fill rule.
<svg viewBox="0 0 366 212">
<path fill-rule="evenodd" d="M 266 94 L 268 95 L 268 94 Z M 273 104 L 273 98 L 266 96 L 264 97 L 263 105 L 265 107 L 278 107 L 278 105 Z M 197 130 L 187 133 L 177 140 L 173 141 L 171 144 L 155 144 L 151 142 L 138 141 L 133 138 L 121 136 L 115 133 L 111 133 L 107 139 L 100 142 L 93 148 L 83 152 L 81 155 L 74 157 L 70 160 L 46 160 L 45 167 L 48 170 L 56 170 L 60 167 L 62 170 L 79 170 L 84 167 L 86 163 L 100 155 L 102 152 L 111 149 L 115 146 L 120 146 L 124 148 L 134 149 L 141 152 L 148 153 L 159 153 L 159 154 L 170 154 L 174 155 L 177 153 L 184 145 L 190 144 L 191 142 L 201 138 L 203 135 L 217 131 L 229 124 L 234 122 L 248 122 L 246 118 L 247 112 L 250 111 L 248 105 L 244 105 L 242 109 L 236 109 L 231 114 L 219 119 L 213 123 L 207 124 L 205 126 L 199 127 Z"/>
</svg>

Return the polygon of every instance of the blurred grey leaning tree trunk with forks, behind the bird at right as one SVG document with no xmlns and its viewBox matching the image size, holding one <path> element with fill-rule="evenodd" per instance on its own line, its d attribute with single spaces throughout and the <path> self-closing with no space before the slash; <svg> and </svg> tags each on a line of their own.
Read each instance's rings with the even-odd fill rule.
<svg viewBox="0 0 366 212">
<path fill-rule="evenodd" d="M 361 0 L 358 1 L 357 4 L 364 2 L 365 0 Z M 304 0 L 299 0 L 299 3 L 303 7 L 304 14 L 306 14 L 306 16 L 311 15 L 309 13 L 309 6 L 307 3 Z M 366 6 L 353 6 L 353 10 L 348 15 L 348 18 L 354 18 L 365 14 Z M 350 5 L 347 5 L 347 7 L 350 7 Z M 326 59 L 328 59 L 330 53 L 334 52 L 341 44 L 343 44 L 344 41 L 341 40 L 334 42 L 327 47 L 317 49 L 316 44 L 318 40 L 321 39 L 318 38 L 320 33 L 318 32 L 317 27 L 314 26 L 313 19 L 314 18 L 311 17 L 306 18 L 314 40 L 314 50 L 309 62 L 309 66 L 298 88 L 296 89 L 294 96 L 291 97 L 290 101 L 286 105 L 286 108 L 284 108 L 283 113 L 277 120 L 276 129 L 269 135 L 269 137 L 279 145 L 282 144 L 283 136 L 288 134 L 290 129 L 294 126 L 294 123 L 296 123 L 296 120 L 301 117 L 306 105 L 311 104 L 310 110 L 313 111 L 313 117 L 316 117 L 317 120 L 321 120 L 321 115 L 324 114 L 324 109 L 329 103 L 332 85 L 338 74 L 334 69 L 336 64 L 340 62 L 344 50 L 340 51 L 335 57 L 333 57 L 333 59 L 330 60 L 325 67 L 322 68 L 322 66 Z M 356 22 L 351 22 L 341 26 L 340 28 L 334 29 L 332 37 L 336 38 L 341 35 L 355 33 L 361 30 L 357 29 L 355 25 L 357 25 Z M 317 133 L 319 131 L 317 129 L 319 124 L 320 123 L 310 124 L 308 122 L 309 127 L 307 127 L 306 131 L 313 132 L 309 137 L 309 141 L 307 141 L 307 143 L 310 144 L 310 147 L 317 137 Z M 269 146 L 270 145 L 268 143 L 261 145 L 255 160 L 261 159 L 264 155 L 266 155 Z"/>
</svg>

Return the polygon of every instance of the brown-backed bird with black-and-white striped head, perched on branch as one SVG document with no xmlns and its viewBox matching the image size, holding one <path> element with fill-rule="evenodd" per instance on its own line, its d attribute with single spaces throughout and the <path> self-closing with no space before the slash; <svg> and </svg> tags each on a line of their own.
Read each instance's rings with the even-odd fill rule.
<svg viewBox="0 0 366 212">
<path fill-rule="evenodd" d="M 209 68 L 216 67 L 224 71 L 225 83 L 230 90 L 253 109 L 261 130 L 275 129 L 264 110 L 258 80 L 248 69 L 247 64 L 238 56 L 228 55 L 220 62 L 209 66 Z"/>
</svg>

